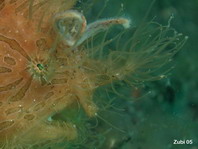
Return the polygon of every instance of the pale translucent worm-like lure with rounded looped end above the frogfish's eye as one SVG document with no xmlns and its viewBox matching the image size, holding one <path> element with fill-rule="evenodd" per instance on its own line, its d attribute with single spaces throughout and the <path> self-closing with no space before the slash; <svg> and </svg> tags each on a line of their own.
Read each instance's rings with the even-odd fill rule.
<svg viewBox="0 0 198 149">
<path fill-rule="evenodd" d="M 85 17 L 74 10 L 56 15 L 54 22 L 56 31 L 61 35 L 65 43 L 68 46 L 75 47 L 90 37 L 108 30 L 113 25 L 122 25 L 125 29 L 130 27 L 130 20 L 126 18 L 102 19 L 87 26 Z M 69 22 L 72 22 L 72 24 Z"/>
</svg>

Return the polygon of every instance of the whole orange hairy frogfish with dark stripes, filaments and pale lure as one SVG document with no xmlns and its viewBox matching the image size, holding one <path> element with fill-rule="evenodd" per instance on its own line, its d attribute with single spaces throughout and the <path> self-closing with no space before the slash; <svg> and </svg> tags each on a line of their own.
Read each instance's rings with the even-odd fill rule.
<svg viewBox="0 0 198 149">
<path fill-rule="evenodd" d="M 120 17 L 87 25 L 84 15 L 73 10 L 75 3 L 0 0 L 1 147 L 75 139 L 74 124 L 47 119 L 76 101 L 89 117 L 97 116 L 92 101 L 97 87 L 114 80 L 135 84 L 162 78 L 155 70 L 184 44 L 185 39 L 178 42 L 180 34 L 167 37 L 169 27 L 153 23 L 156 29 L 145 25 L 133 30 L 125 46 L 119 34 L 88 47 L 83 44 L 87 39 L 92 43 L 96 34 L 113 25 L 127 30 L 131 21 Z M 110 50 L 106 58 L 99 58 L 113 40 L 122 50 Z"/>
</svg>

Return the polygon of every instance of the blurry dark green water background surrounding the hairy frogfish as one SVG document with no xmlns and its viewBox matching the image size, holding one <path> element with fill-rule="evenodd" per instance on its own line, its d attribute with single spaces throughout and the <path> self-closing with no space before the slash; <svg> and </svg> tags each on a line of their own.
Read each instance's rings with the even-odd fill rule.
<svg viewBox="0 0 198 149">
<path fill-rule="evenodd" d="M 96 16 L 119 14 L 131 18 L 132 26 L 137 26 L 151 3 L 151 0 L 96 0 L 85 16 L 92 21 Z M 174 16 L 171 27 L 189 37 L 174 57 L 174 69 L 167 78 L 137 88 L 118 85 L 119 94 L 124 96 L 113 92 L 107 96 L 98 91 L 95 100 L 98 94 L 103 96 L 101 99 L 105 99 L 108 107 L 100 111 L 103 120 L 86 122 L 90 127 L 87 140 L 71 148 L 198 149 L 197 10 L 197 0 L 155 1 L 146 20 L 166 25 Z M 184 140 L 185 144 L 174 144 L 174 140 Z"/>
</svg>

